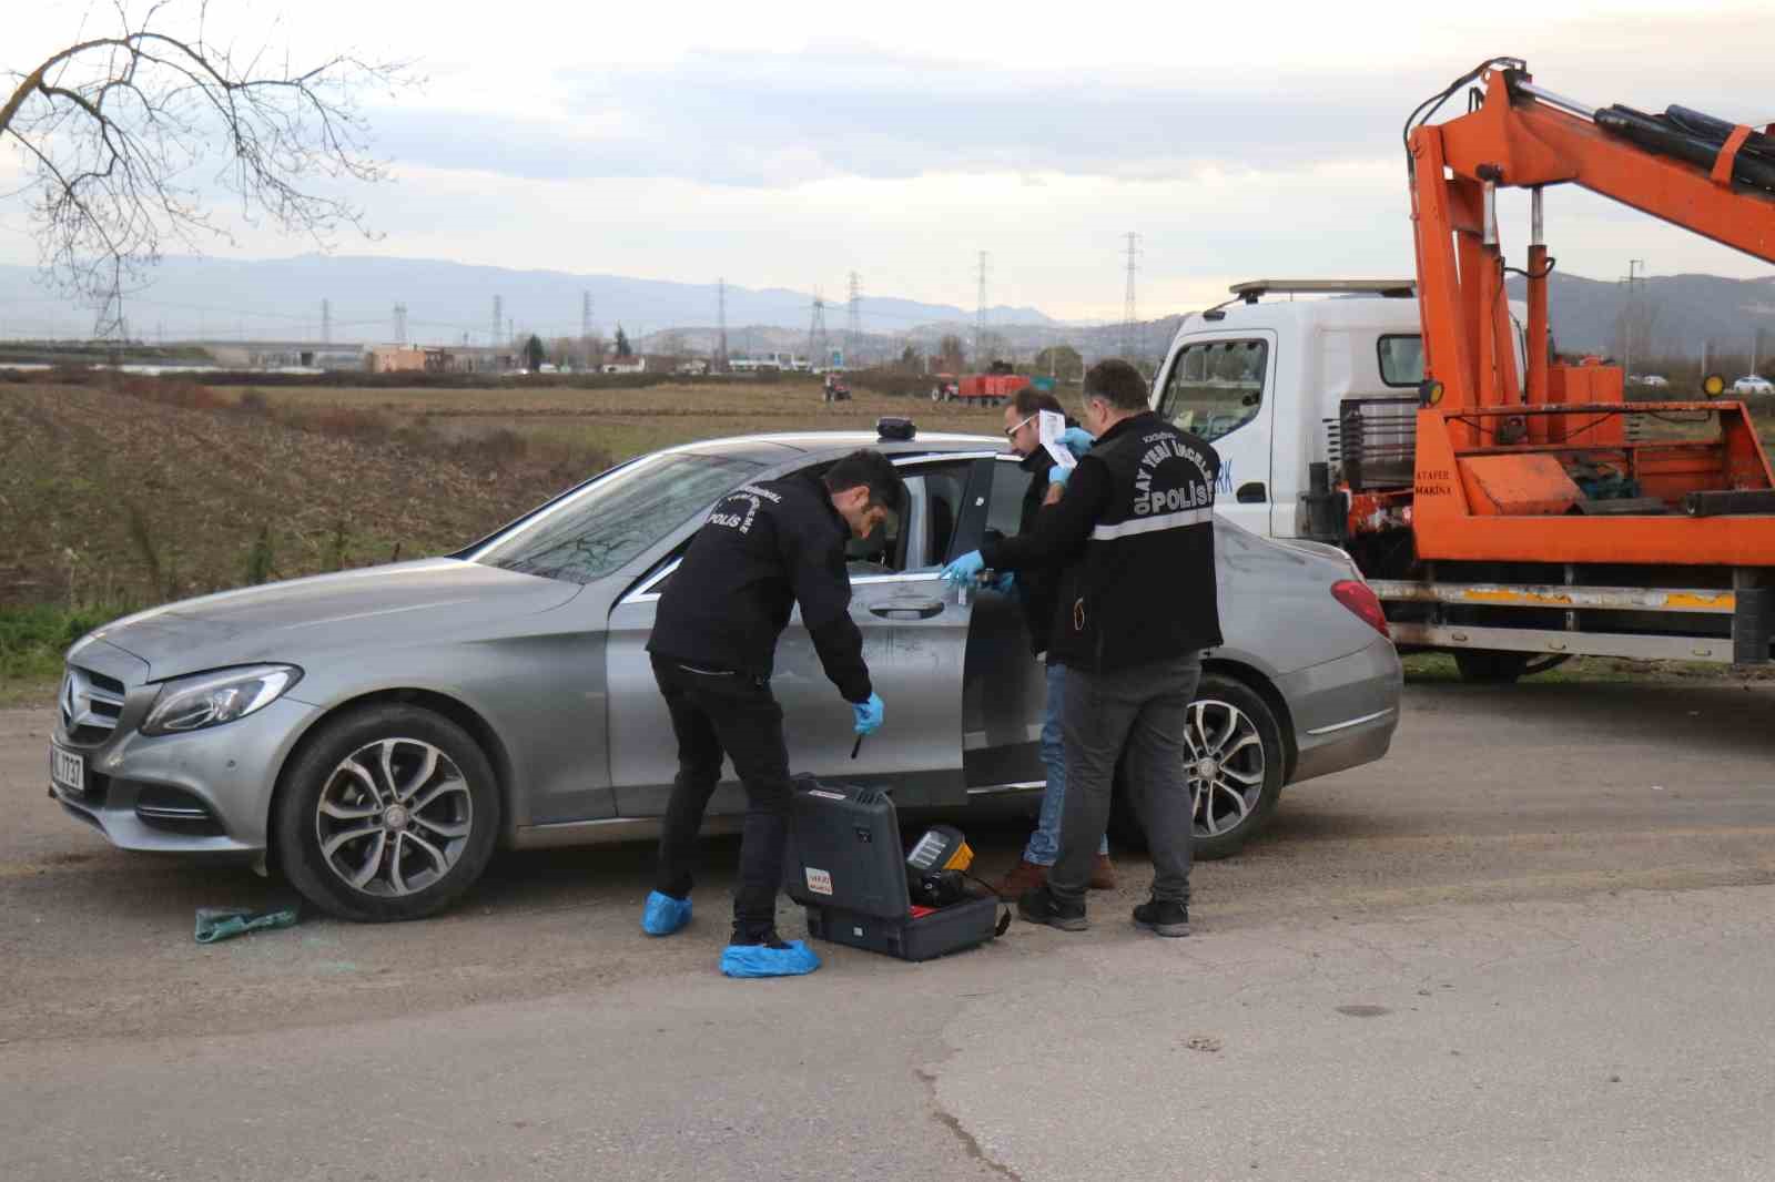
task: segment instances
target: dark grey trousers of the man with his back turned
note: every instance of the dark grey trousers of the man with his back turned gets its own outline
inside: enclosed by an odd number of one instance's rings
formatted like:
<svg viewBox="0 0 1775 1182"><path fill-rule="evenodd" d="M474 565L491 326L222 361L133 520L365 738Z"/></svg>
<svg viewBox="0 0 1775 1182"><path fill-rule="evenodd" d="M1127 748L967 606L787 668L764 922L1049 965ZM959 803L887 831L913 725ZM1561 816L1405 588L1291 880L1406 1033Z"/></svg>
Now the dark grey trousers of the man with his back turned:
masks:
<svg viewBox="0 0 1775 1182"><path fill-rule="evenodd" d="M1115 673L1067 669L1060 728L1067 745L1067 799L1060 818L1060 857L1047 889L1085 902L1097 843L1109 823L1116 761L1152 852L1152 896L1189 902L1195 799L1184 761L1189 701L1202 662L1161 660Z"/></svg>

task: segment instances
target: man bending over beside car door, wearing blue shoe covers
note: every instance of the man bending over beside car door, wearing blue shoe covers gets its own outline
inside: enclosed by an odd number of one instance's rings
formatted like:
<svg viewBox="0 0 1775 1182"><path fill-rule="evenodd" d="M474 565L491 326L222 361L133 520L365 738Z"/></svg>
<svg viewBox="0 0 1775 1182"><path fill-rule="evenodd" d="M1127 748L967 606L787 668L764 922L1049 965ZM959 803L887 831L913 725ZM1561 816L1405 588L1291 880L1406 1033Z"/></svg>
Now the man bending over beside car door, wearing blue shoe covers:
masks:
<svg viewBox="0 0 1775 1182"><path fill-rule="evenodd" d="M737 488L710 511L660 595L648 653L678 738L678 777L641 926L669 935L690 918L692 850L726 754L746 786L733 939L721 960L728 976L788 976L820 965L801 941L786 944L776 932L790 777L770 673L777 637L799 603L825 676L852 703L857 735L880 726L882 699L850 619L845 541L872 534L903 495L879 451L852 453L824 476Z"/></svg>

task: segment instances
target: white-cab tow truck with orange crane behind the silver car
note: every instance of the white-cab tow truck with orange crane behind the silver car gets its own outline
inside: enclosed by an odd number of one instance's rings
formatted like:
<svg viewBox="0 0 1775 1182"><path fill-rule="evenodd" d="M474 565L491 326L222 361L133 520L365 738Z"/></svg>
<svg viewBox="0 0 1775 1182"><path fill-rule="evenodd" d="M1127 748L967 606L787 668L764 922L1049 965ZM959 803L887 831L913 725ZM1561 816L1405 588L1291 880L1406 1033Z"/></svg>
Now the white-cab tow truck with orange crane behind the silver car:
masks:
<svg viewBox="0 0 1775 1182"><path fill-rule="evenodd" d="M1466 114L1431 122L1470 85ZM1415 277L1251 280L1180 325L1154 405L1221 453L1218 509L1347 550L1400 648L1470 680L1578 655L1770 662L1775 479L1750 415L1718 376L1708 401L1628 401L1621 367L1551 357L1542 193L1578 185L1775 261L1775 137L1590 106L1491 59L1404 144ZM1511 188L1530 201L1519 268Z"/></svg>

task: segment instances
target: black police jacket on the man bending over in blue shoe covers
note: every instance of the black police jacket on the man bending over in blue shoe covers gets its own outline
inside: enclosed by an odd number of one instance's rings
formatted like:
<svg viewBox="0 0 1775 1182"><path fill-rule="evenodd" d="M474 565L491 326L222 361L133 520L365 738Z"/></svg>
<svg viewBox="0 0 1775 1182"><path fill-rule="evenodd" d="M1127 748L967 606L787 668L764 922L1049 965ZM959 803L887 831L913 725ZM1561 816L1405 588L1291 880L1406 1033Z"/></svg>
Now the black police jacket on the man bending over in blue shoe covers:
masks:
<svg viewBox="0 0 1775 1182"><path fill-rule="evenodd" d="M648 651L769 678L777 637L801 603L825 676L847 701L868 701L863 634L850 619L847 538L850 527L813 476L733 490L710 509L667 580Z"/></svg>

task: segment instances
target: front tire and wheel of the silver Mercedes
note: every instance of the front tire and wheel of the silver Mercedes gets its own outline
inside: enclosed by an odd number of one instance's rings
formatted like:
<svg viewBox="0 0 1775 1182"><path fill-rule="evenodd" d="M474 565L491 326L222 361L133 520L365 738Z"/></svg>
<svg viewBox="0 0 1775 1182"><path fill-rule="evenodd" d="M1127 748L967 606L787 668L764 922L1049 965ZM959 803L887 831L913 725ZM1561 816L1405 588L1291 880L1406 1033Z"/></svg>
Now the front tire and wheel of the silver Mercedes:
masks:
<svg viewBox="0 0 1775 1182"><path fill-rule="evenodd" d="M343 713L304 742L273 804L289 884L341 919L437 914L474 886L499 839L501 799L479 744L408 705Z"/></svg>

